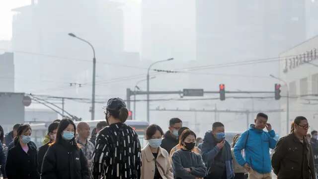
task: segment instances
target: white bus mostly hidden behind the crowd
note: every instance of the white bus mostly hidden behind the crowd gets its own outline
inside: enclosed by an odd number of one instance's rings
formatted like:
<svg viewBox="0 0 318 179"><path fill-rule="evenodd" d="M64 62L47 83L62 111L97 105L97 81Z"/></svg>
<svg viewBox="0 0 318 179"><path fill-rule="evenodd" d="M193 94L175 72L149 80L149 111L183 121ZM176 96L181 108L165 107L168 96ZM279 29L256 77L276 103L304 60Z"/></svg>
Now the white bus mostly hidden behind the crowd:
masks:
<svg viewBox="0 0 318 179"><path fill-rule="evenodd" d="M100 121L105 121L105 120L93 120L93 121L82 121L86 122L90 130L93 130L93 128L96 127L97 123ZM74 122L75 125L78 125L80 121ZM41 147L43 145L43 140L45 135L48 133L48 127L51 124L51 122L48 123L39 123L39 124L30 124L31 129L32 129L32 136L31 136L31 141L33 141L37 147ZM125 124L129 125L132 127L138 134L139 140L140 140L140 145L145 146L146 142L144 139L146 129L149 126L149 123L146 121L135 121L135 120L127 120Z"/></svg>

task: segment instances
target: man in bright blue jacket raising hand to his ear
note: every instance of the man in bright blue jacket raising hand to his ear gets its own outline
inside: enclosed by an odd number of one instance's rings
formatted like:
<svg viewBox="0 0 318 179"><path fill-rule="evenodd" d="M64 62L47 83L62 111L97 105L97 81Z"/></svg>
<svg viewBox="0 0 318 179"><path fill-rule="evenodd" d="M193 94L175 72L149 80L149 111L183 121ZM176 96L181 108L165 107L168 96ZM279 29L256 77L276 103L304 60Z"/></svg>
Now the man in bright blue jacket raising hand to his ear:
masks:
<svg viewBox="0 0 318 179"><path fill-rule="evenodd" d="M275 132L272 126L267 123L268 116L258 113L255 124L242 133L234 146L234 156L239 165L244 167L249 174L249 179L271 179L271 161L269 148L276 146ZM266 127L268 132L263 131ZM245 159L241 151L244 149Z"/></svg>

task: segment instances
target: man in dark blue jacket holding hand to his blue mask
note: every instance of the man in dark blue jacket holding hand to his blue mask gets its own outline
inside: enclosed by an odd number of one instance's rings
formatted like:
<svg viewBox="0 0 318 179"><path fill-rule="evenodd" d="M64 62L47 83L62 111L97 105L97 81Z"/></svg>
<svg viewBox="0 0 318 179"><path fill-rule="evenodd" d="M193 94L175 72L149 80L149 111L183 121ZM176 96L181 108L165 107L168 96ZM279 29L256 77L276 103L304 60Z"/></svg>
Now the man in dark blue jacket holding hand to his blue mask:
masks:
<svg viewBox="0 0 318 179"><path fill-rule="evenodd" d="M225 140L225 129L221 122L212 125L202 143L202 159L208 169L205 179L233 179L231 146Z"/></svg>

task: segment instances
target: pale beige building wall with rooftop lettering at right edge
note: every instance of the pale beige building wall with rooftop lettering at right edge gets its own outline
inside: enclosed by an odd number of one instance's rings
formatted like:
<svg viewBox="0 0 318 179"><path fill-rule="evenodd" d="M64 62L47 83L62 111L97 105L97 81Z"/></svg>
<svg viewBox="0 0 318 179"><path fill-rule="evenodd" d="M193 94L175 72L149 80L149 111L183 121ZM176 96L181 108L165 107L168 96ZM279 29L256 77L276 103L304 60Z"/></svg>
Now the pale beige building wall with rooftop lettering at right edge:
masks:
<svg viewBox="0 0 318 179"><path fill-rule="evenodd" d="M307 117L310 131L318 129L318 36L315 36L280 54L280 77L290 92L289 126L296 116ZM282 82L282 96L286 86ZM286 110L286 97L280 99ZM286 134L286 112L281 113L282 134ZM290 128L290 127L289 127ZM290 131L290 129L289 129Z"/></svg>

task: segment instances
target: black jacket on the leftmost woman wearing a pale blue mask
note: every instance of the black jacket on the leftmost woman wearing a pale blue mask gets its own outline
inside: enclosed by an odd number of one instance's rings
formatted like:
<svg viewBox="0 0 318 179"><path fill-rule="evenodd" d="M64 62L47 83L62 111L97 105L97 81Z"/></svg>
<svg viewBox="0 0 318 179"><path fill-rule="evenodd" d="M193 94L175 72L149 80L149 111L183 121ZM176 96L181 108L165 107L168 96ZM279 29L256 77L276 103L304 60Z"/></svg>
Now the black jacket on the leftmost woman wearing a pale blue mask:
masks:
<svg viewBox="0 0 318 179"><path fill-rule="evenodd" d="M8 179L40 179L37 171L37 151L30 144L28 147L28 153L23 151L20 143L9 150L5 165Z"/></svg>

